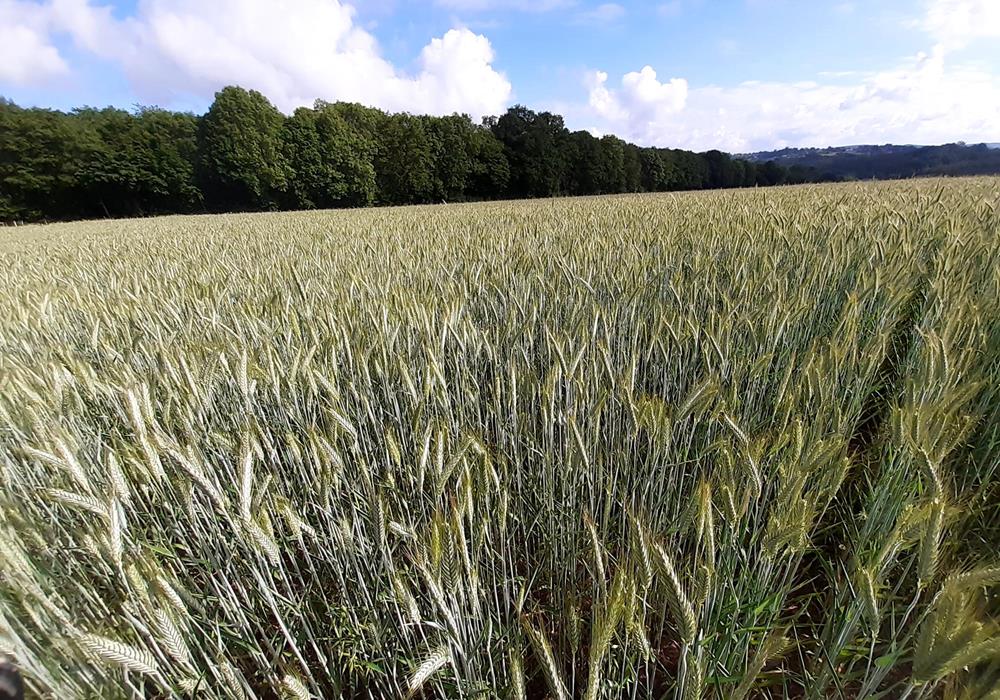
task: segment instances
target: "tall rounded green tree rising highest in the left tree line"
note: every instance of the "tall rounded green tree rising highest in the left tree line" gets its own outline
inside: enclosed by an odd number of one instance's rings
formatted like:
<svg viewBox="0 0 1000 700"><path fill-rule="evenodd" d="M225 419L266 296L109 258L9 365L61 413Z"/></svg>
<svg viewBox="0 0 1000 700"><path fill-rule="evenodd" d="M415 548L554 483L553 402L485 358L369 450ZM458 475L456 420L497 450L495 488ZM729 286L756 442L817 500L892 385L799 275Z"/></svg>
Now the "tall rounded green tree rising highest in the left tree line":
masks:
<svg viewBox="0 0 1000 700"><path fill-rule="evenodd" d="M202 119L200 152L206 200L214 209L269 209L290 171L282 154L284 117L256 90L226 87Z"/></svg>

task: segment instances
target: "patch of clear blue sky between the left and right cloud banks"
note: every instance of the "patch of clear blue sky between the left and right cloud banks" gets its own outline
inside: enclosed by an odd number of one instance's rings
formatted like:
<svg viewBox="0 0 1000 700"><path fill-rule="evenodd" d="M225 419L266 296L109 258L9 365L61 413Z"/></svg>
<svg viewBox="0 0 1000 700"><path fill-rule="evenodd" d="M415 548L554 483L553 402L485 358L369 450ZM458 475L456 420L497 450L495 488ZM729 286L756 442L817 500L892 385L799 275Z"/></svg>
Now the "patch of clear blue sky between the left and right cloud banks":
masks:
<svg viewBox="0 0 1000 700"><path fill-rule="evenodd" d="M597 3L550 12L490 4L494 9L458 11L381 2L359 14L375 23L387 54L399 63L416 56L427 36L452 26L483 32L517 98L530 104L572 99L579 82L573 76L588 69L624 74L648 64L692 83L796 81L820 71L891 64L926 48L916 33L896 31L901 21L918 16L913 3L901 0L876 11L822 1L621 2L614 4L620 10L603 15Z"/></svg>

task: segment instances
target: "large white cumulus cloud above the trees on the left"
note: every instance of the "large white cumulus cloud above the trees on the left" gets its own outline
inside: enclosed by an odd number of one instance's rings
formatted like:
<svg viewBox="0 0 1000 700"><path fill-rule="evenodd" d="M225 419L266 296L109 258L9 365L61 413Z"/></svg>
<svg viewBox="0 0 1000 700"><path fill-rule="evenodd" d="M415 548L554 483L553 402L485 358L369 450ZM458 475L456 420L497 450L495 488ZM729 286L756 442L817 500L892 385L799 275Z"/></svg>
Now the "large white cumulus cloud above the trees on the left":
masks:
<svg viewBox="0 0 1000 700"><path fill-rule="evenodd" d="M0 0L3 10L11 0ZM34 31L49 52L49 72L65 61L52 44L62 33L84 51L115 63L145 101L209 96L226 84L260 90L290 111L316 98L357 101L390 110L474 117L501 111L511 85L493 66L489 40L453 29L424 47L418 69L405 73L380 53L375 38L339 0L145 0L116 19L89 0L47 0L37 17L16 15L4 34ZM34 29L33 29L34 28ZM3 49L6 73L38 74L37 52ZM0 73L2 78L4 73Z"/></svg>

